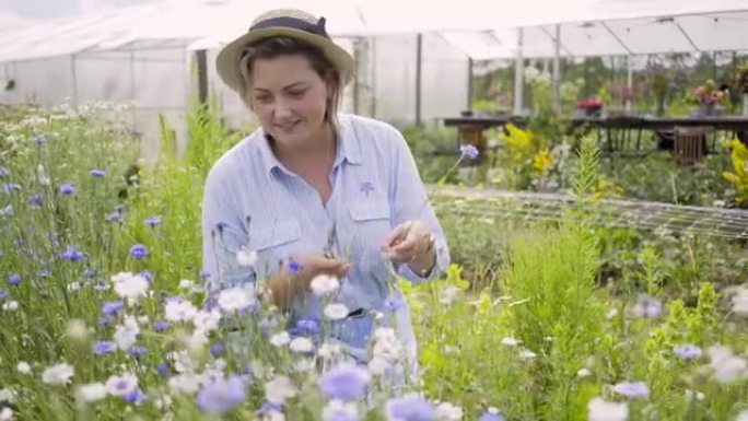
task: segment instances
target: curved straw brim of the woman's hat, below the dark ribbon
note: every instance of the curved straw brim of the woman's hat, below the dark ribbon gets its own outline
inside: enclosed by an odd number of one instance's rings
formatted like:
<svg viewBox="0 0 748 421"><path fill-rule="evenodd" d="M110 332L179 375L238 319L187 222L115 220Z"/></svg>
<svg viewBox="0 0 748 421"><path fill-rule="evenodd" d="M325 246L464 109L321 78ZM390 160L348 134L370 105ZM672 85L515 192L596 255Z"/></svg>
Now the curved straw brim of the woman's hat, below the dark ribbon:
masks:
<svg viewBox="0 0 748 421"><path fill-rule="evenodd" d="M353 78L355 70L353 57L332 40L305 31L289 27L267 27L248 32L221 49L215 59L215 69L223 83L241 93L242 73L239 72L239 60L242 59L244 48L248 44L274 36L288 36L319 48L325 57L332 62L332 66L338 69L343 84Z"/></svg>

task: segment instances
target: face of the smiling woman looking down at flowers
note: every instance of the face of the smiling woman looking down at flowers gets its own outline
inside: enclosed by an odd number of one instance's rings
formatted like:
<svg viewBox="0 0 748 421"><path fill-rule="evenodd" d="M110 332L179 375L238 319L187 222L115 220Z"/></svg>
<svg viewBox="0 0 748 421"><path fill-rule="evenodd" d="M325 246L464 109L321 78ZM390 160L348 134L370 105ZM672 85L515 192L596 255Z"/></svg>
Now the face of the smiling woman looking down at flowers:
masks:
<svg viewBox="0 0 748 421"><path fill-rule="evenodd" d="M248 95L265 131L292 148L323 129L330 90L306 57L285 55L255 60Z"/></svg>

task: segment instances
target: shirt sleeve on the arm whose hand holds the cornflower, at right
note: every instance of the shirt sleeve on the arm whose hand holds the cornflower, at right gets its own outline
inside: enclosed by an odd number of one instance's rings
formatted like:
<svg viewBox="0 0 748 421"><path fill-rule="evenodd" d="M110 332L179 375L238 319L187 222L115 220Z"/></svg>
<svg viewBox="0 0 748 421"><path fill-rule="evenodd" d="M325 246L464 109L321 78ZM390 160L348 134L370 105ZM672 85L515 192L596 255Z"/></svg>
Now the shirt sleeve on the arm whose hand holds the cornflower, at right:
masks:
<svg viewBox="0 0 748 421"><path fill-rule="evenodd" d="M444 236L442 225L436 219L431 202L425 192L423 182L418 173L416 160L408 148L402 135L391 129L391 145L394 171L390 188L390 206L394 212L394 224L400 224L408 220L425 222L435 236L434 248L436 262L431 272L425 277L413 272L408 265L397 265L396 270L402 278L420 283L439 278L449 265L449 249Z"/></svg>

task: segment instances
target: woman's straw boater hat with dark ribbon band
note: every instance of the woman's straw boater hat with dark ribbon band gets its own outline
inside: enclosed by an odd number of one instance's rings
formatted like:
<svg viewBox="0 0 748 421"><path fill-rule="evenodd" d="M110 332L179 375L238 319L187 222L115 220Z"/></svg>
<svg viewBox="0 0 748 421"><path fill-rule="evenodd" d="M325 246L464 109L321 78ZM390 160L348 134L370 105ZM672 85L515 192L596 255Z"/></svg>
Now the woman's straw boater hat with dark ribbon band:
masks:
<svg viewBox="0 0 748 421"><path fill-rule="evenodd" d="M319 48L340 72L343 83L353 75L355 63L348 51L330 39L325 30L325 17L295 9L277 9L262 13L252 23L249 31L229 43L218 55L215 67L221 80L232 90L241 92L239 60L247 45L273 36L288 36Z"/></svg>

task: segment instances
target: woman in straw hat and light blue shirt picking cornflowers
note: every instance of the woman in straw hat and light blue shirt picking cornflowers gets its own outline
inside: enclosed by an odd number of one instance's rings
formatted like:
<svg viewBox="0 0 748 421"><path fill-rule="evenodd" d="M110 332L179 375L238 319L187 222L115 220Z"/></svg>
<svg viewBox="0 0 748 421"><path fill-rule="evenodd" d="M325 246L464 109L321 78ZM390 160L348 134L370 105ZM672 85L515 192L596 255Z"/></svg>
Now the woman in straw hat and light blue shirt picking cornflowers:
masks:
<svg viewBox="0 0 748 421"><path fill-rule="evenodd" d="M330 40L324 17L277 10L226 45L217 66L261 128L208 175L208 296L261 283L292 320L319 320L323 303L309 284L338 277L335 300L350 313L332 323L330 338L365 362L373 314L389 311L413 364L409 311L388 280L393 269L412 282L434 279L449 255L402 136L337 113L352 57ZM254 265L237 262L241 250L256 253Z"/></svg>

